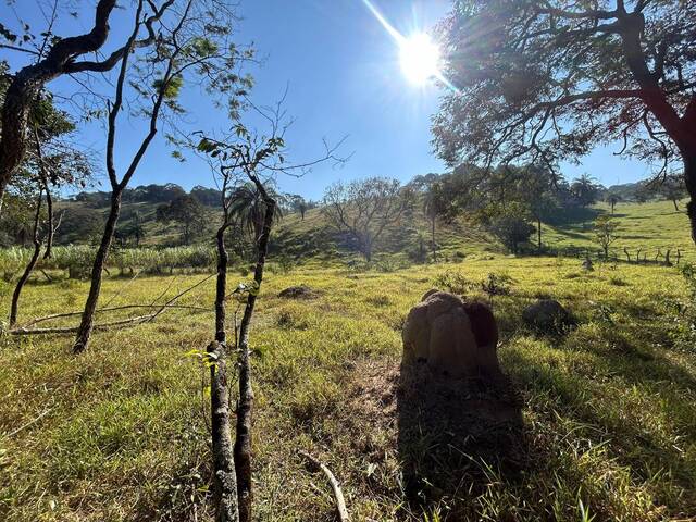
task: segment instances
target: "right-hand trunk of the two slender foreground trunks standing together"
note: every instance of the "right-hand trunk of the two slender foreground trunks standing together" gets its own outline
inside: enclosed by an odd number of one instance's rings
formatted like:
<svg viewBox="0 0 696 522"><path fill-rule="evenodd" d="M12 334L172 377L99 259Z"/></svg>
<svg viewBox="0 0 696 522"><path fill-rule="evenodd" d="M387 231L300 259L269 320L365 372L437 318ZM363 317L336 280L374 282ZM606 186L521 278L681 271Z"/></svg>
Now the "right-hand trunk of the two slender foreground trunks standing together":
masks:
<svg viewBox="0 0 696 522"><path fill-rule="evenodd" d="M261 235L258 238L257 265L253 281L257 285L254 291L249 293L247 306L239 326L239 403L237 407L237 430L234 448L235 469L237 471L237 495L239 499L239 520L251 521L251 410L253 406L253 391L251 388L251 365L249 362L249 326L257 296L263 281L263 269L269 249L269 237L273 225L275 201L268 196L261 182L252 178L257 188L265 201L265 216Z"/></svg>

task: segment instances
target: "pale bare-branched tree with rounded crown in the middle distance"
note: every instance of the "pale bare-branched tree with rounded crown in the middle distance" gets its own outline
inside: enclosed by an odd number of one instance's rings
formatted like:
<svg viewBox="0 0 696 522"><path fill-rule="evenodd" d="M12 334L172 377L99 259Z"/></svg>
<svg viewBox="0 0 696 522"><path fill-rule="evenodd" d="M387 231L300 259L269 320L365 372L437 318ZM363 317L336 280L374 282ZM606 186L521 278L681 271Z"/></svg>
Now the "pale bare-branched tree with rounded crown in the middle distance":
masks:
<svg viewBox="0 0 696 522"><path fill-rule="evenodd" d="M408 195L397 179L369 177L330 186L324 192L322 212L339 232L357 243L370 262L384 229L398 223L409 204Z"/></svg>

